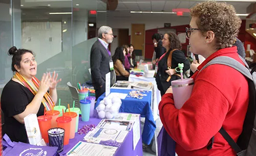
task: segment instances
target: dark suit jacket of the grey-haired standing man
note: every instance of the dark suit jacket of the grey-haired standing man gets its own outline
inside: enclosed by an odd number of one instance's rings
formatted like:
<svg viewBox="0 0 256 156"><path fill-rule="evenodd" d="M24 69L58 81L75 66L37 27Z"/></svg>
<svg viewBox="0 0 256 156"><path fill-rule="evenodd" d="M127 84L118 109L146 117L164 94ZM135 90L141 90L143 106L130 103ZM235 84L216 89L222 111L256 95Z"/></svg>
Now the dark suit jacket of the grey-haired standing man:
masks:
<svg viewBox="0 0 256 156"><path fill-rule="evenodd" d="M97 40L91 48L90 55L92 84L95 89L98 89L101 85L105 85L105 75L110 72L110 61L112 59L108 50ZM113 73L112 70L111 79L113 79Z"/></svg>

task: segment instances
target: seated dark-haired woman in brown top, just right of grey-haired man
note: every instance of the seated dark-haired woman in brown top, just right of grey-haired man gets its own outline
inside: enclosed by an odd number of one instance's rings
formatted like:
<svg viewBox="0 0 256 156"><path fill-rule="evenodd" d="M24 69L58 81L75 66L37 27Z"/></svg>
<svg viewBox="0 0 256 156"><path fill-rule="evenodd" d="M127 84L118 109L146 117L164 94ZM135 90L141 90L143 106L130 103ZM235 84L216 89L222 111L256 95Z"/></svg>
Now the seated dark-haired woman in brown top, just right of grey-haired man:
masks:
<svg viewBox="0 0 256 156"><path fill-rule="evenodd" d="M117 47L112 57L117 81L128 81L130 73L124 68L124 55L126 51L123 47Z"/></svg>

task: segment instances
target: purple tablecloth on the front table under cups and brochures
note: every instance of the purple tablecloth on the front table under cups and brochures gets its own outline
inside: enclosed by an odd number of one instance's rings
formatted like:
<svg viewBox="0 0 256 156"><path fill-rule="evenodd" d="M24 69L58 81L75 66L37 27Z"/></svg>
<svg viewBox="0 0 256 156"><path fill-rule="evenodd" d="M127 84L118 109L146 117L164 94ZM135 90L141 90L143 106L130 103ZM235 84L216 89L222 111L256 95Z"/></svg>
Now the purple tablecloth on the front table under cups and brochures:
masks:
<svg viewBox="0 0 256 156"><path fill-rule="evenodd" d="M90 120L88 122L84 122L81 120L81 117L79 118L79 124L78 124L78 128L81 128L83 125L86 124L95 124L95 126L98 125L98 123L101 121L101 119L97 119L97 118L90 118ZM73 148L79 141L83 141L83 137L85 135L79 135L79 134L75 134L75 138L74 139L70 139L69 140L69 144L64 146L63 151L60 154L66 155L66 153L68 153L68 151ZM133 150L133 130L131 130L124 142L122 143L121 147L119 147L115 153L116 156L122 155L122 156L131 156L131 155L138 155L138 156L142 156L143 155L143 151L142 151L142 140L140 137L140 140L135 148L135 150Z"/></svg>

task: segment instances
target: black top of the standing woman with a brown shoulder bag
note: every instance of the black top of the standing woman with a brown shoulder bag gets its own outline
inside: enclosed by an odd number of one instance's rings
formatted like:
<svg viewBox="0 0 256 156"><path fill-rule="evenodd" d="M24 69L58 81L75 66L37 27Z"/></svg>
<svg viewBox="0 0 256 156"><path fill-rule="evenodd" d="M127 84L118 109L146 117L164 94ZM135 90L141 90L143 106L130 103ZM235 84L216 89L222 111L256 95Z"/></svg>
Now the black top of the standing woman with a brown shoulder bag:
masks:
<svg viewBox="0 0 256 156"><path fill-rule="evenodd" d="M166 82L169 75L165 72L165 70L168 70L167 69L167 58L170 54L170 51L171 50L169 50L165 54L165 56L161 60L158 61L158 71L157 71L157 75L156 75L156 82L157 82L158 89L161 91L161 95L163 95L166 92L166 90L170 87L170 85L171 85L170 82L172 82L173 80L180 79L179 76L172 75L169 82ZM189 61L185 57L184 53L181 50L175 50L175 51L173 51L173 55L172 55L172 69L175 69L176 67L178 67L179 63L184 64L183 73L186 70L188 70L190 67ZM178 74L180 74L180 73L178 72Z"/></svg>

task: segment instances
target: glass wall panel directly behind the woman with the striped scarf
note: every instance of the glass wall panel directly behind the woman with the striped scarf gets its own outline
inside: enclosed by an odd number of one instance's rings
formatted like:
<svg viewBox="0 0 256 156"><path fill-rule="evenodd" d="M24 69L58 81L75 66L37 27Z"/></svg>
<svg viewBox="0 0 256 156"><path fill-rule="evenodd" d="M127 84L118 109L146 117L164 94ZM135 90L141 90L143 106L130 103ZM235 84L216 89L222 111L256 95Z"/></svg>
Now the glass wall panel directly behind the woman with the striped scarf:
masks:
<svg viewBox="0 0 256 156"><path fill-rule="evenodd" d="M13 6L14 45L33 51L39 80L45 72L58 73L58 98L67 106L72 102L67 86L72 81L72 1L21 0Z"/></svg>

